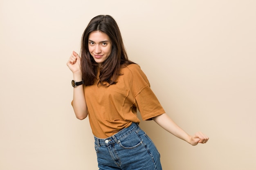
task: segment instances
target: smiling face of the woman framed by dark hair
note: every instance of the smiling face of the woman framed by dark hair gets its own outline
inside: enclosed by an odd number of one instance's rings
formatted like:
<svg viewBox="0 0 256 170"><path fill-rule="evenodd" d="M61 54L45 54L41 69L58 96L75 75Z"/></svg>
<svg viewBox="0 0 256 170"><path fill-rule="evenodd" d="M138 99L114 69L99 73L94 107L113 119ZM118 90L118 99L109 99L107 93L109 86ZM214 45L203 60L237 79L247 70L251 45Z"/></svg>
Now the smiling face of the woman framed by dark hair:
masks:
<svg viewBox="0 0 256 170"><path fill-rule="evenodd" d="M101 66L101 64L110 56L112 42L106 33L93 31L89 34L88 48L95 62Z"/></svg>

